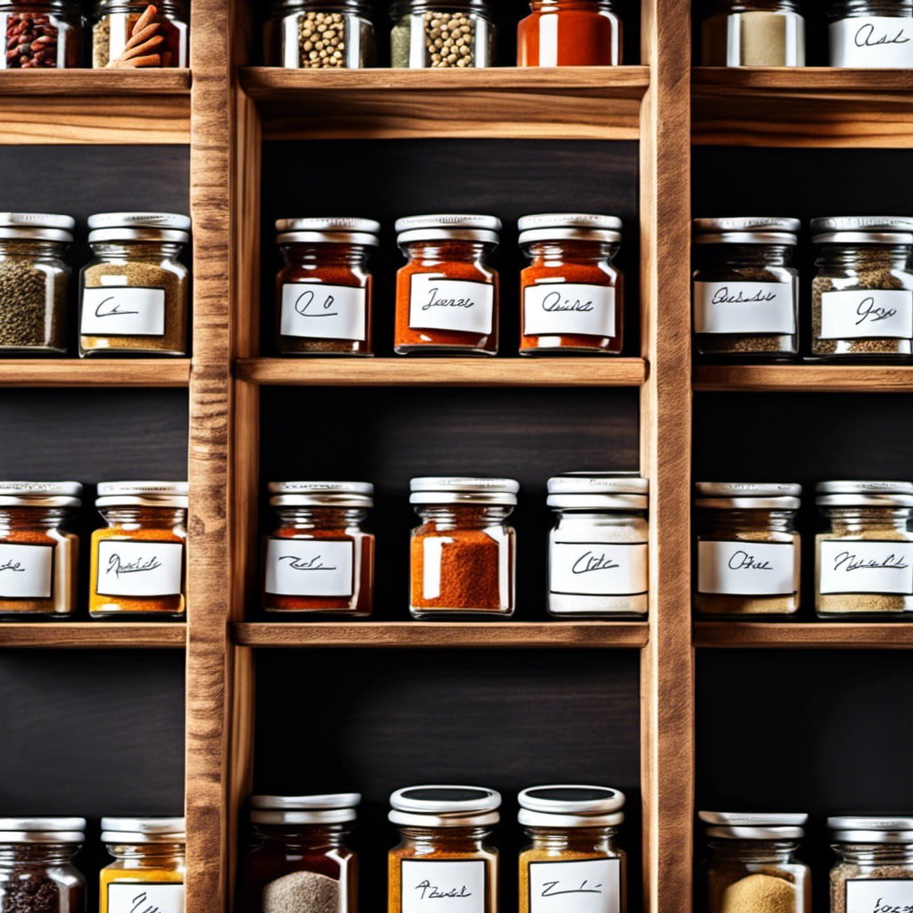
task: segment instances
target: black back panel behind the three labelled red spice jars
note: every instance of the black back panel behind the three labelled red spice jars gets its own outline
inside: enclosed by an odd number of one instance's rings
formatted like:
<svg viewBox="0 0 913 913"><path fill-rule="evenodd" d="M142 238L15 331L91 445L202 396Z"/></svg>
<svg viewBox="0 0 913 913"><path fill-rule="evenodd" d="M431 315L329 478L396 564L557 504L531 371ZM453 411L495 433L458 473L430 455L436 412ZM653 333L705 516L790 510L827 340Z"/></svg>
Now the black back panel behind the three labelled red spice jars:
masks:
<svg viewBox="0 0 913 913"><path fill-rule="evenodd" d="M362 215L383 226L373 255L374 351L393 352L396 270L404 258L394 223L404 215L484 213L504 222L492 259L500 273L500 354L519 346L517 219L544 212L619 215L615 264L624 274L624 353L640 352L636 142L383 140L268 142L263 148L261 321L263 352L275 346L278 218ZM301 175L299 179L295 175ZM307 177L304 177L307 175ZM419 356L413 356L419 357Z"/></svg>

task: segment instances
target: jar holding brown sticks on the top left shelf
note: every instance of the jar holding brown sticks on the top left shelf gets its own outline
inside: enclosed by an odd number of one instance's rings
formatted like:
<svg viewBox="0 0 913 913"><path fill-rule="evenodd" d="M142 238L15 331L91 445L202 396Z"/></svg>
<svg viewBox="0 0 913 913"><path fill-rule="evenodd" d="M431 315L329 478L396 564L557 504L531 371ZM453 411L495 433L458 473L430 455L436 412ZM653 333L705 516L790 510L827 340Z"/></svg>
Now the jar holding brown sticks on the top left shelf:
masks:
<svg viewBox="0 0 913 913"><path fill-rule="evenodd" d="M187 67L185 0L99 0L92 67Z"/></svg>

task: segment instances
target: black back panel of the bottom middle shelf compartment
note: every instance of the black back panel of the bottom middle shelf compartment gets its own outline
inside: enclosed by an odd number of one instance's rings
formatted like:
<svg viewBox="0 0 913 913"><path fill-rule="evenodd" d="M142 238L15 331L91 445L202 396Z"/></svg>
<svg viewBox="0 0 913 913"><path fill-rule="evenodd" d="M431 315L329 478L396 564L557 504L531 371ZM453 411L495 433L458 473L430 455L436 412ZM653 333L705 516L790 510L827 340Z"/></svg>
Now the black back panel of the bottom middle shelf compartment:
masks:
<svg viewBox="0 0 913 913"><path fill-rule="evenodd" d="M256 792L362 792L352 845L362 913L386 909L391 792L421 782L501 792L500 909L517 908L516 794L600 783L628 797L629 908L640 909L636 651L270 652L257 657Z"/></svg>

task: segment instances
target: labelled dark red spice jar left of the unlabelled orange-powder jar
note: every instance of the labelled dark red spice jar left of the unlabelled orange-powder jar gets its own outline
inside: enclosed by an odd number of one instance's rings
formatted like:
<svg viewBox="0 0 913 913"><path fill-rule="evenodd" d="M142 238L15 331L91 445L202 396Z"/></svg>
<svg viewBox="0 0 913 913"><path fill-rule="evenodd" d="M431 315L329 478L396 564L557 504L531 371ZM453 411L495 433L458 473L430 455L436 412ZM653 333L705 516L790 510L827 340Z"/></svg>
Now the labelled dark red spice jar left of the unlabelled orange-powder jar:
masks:
<svg viewBox="0 0 913 913"><path fill-rule="evenodd" d="M374 537L362 530L369 482L270 482L277 523L264 543L267 612L371 614Z"/></svg>

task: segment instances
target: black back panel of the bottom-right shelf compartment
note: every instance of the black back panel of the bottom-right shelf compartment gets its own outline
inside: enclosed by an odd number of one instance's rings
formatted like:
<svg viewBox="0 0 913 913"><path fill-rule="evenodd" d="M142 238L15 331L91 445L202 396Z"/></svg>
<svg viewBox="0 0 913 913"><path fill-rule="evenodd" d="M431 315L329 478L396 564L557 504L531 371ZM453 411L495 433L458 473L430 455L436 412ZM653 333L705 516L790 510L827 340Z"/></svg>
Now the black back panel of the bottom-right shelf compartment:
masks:
<svg viewBox="0 0 913 913"><path fill-rule="evenodd" d="M827 913L827 816L913 812L911 690L903 651L700 651L698 809L810 813Z"/></svg>

